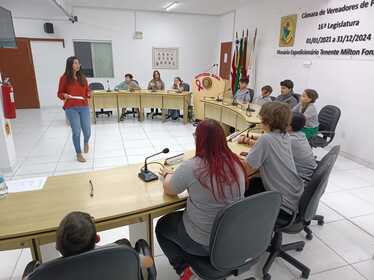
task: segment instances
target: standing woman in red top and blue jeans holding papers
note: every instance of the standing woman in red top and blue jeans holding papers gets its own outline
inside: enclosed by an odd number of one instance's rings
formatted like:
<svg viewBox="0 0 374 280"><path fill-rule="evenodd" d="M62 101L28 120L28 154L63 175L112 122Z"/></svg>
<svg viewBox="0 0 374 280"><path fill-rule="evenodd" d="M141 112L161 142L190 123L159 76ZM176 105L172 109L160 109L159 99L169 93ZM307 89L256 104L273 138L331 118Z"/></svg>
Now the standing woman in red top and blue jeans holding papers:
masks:
<svg viewBox="0 0 374 280"><path fill-rule="evenodd" d="M66 60L65 73L60 78L57 96L64 101L63 108L70 122L77 160L86 162L82 155L80 139L82 131L84 152L88 153L88 142L91 137L91 116L88 106L90 95L78 57L71 56Z"/></svg>

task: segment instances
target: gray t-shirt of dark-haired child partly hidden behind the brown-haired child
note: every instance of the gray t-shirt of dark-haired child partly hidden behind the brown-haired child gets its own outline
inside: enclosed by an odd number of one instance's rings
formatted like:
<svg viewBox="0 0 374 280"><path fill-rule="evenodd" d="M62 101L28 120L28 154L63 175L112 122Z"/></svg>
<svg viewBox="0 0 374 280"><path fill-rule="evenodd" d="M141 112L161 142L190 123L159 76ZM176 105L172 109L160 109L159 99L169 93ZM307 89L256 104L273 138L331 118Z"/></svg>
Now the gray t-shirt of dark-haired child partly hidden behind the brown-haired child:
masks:
<svg viewBox="0 0 374 280"><path fill-rule="evenodd" d="M301 179L310 181L314 170L317 168L312 148L302 131L291 132L290 138L297 173Z"/></svg>

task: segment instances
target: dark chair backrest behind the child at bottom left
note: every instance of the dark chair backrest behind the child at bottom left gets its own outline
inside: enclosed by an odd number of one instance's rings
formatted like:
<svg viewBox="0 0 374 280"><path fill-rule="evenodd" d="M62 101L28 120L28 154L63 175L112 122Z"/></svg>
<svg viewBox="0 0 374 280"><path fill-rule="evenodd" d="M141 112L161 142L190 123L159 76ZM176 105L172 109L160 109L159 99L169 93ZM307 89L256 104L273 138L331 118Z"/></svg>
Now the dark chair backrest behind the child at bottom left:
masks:
<svg viewBox="0 0 374 280"><path fill-rule="evenodd" d="M110 245L40 265L27 280L140 280L139 257L132 248Z"/></svg>

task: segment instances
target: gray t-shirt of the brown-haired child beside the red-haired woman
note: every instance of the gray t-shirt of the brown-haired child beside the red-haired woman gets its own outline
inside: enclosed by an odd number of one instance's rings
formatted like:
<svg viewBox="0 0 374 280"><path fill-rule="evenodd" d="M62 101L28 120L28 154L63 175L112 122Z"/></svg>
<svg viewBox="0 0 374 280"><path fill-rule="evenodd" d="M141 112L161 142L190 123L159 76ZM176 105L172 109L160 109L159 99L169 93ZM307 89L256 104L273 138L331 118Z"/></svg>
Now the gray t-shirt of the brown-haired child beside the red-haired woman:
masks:
<svg viewBox="0 0 374 280"><path fill-rule="evenodd" d="M304 182L297 174L288 134L269 132L262 135L249 151L247 162L260 170L266 190L282 194L284 210L298 210Z"/></svg>

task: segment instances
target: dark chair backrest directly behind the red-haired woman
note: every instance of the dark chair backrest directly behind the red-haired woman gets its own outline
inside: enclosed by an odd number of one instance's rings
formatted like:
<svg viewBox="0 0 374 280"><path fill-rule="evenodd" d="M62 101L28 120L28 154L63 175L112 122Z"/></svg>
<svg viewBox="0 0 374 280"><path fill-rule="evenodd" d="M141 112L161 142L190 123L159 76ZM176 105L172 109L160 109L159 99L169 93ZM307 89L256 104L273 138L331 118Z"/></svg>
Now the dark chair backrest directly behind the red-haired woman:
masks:
<svg viewBox="0 0 374 280"><path fill-rule="evenodd" d="M278 192L264 192L220 211L210 238L211 264L218 270L231 271L266 252L281 200Z"/></svg>

